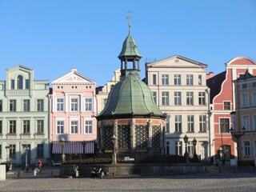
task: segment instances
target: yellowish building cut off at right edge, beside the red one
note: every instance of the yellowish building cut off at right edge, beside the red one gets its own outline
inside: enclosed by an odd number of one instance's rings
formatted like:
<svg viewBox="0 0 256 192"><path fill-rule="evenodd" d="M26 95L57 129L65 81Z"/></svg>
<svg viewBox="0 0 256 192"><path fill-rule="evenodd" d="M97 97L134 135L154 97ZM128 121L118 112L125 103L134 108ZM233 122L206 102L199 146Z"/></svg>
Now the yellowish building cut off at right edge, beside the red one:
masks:
<svg viewBox="0 0 256 192"><path fill-rule="evenodd" d="M240 165L256 165L256 75L246 70L234 80L234 93L231 134L237 143L237 160Z"/></svg>

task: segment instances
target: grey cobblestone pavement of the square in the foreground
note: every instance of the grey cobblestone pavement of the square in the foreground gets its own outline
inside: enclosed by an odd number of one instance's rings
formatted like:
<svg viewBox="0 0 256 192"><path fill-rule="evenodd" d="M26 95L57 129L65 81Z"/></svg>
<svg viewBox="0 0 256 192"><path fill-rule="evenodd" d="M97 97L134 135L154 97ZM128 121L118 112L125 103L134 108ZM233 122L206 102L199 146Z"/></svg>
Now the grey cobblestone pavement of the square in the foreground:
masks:
<svg viewBox="0 0 256 192"><path fill-rule="evenodd" d="M58 169L8 173L0 191L256 191L256 173L171 174L105 178L59 178Z"/></svg>

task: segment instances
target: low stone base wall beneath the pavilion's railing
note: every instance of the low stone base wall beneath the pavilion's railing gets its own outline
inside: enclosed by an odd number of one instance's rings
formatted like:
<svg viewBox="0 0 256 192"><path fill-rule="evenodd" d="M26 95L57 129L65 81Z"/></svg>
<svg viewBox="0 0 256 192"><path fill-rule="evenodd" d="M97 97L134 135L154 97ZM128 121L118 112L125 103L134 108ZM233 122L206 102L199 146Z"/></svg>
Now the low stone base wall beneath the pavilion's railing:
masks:
<svg viewBox="0 0 256 192"><path fill-rule="evenodd" d="M78 166L78 177L89 178L91 170L102 168L106 176L125 175L170 175L170 174L198 174L207 171L207 165L202 163L120 163L120 164L80 164ZM60 166L60 176L74 176L73 165L64 164Z"/></svg>

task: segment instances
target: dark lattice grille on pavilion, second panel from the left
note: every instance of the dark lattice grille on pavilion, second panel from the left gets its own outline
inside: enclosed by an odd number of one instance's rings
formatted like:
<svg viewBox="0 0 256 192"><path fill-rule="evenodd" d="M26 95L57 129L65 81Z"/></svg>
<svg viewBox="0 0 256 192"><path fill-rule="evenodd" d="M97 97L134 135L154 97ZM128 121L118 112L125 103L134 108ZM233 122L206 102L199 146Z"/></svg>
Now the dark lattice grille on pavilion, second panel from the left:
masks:
<svg viewBox="0 0 256 192"><path fill-rule="evenodd" d="M130 148L130 125L118 126L118 149Z"/></svg>

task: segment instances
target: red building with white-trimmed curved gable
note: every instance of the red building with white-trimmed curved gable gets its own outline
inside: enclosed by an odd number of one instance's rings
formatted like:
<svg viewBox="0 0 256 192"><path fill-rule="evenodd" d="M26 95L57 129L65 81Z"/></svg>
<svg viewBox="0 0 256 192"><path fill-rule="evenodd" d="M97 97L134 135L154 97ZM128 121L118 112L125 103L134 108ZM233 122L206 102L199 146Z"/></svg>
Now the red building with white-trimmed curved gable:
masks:
<svg viewBox="0 0 256 192"><path fill-rule="evenodd" d="M230 164L230 159L238 157L236 145L232 140L230 128L231 112L235 110L235 92L233 81L245 74L246 69L256 74L256 63L246 57L238 57L226 63L226 70L207 79L210 88L211 120L214 130L212 145L214 158L223 164Z"/></svg>

